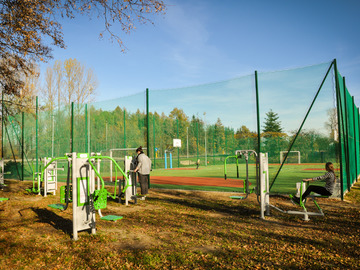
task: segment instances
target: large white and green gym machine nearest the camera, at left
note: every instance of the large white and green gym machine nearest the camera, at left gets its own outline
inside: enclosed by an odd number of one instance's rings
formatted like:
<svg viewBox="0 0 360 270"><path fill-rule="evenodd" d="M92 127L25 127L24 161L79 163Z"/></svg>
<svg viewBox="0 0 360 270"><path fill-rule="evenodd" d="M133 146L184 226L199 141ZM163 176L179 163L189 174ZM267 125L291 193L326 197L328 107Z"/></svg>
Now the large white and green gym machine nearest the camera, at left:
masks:
<svg viewBox="0 0 360 270"><path fill-rule="evenodd" d="M70 153L66 154L69 170L66 186L61 187L60 201L63 204L51 204L52 208L66 210L69 203L73 208L73 239L78 239L78 232L90 230L92 234L96 233L95 213L98 210L99 216L103 220L116 221L122 219L122 216L103 216L101 209L107 206L108 191L105 189L105 183L96 168L97 160L109 159L126 179L126 185L123 192L126 192L128 177L115 162L114 159L107 156L94 155L88 153ZM42 173L43 175L43 173ZM95 175L98 177L96 185Z"/></svg>

